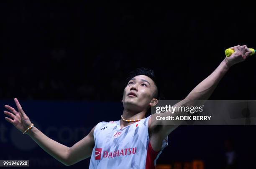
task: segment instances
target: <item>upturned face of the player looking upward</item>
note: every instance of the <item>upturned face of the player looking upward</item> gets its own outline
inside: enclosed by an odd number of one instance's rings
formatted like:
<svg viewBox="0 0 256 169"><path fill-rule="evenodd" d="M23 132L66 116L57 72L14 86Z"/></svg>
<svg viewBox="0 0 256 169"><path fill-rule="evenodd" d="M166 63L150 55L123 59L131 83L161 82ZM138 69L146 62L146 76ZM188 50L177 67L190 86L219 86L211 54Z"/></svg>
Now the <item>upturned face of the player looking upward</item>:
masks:
<svg viewBox="0 0 256 169"><path fill-rule="evenodd" d="M123 91L124 108L143 111L151 103L156 92L154 81L148 76L139 75L132 78Z"/></svg>

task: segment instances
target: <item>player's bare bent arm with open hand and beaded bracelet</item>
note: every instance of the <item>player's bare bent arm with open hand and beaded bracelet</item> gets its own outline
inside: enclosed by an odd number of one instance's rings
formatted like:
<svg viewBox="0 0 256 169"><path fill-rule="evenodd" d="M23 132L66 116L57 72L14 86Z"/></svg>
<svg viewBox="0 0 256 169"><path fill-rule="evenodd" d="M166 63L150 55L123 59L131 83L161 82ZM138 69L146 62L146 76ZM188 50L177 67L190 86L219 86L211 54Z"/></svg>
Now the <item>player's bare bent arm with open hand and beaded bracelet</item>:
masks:
<svg viewBox="0 0 256 169"><path fill-rule="evenodd" d="M18 111L15 108L5 105L9 111L4 111L9 117L5 117L6 121L10 122L20 131L25 131L31 126L31 121L25 114L20 106L20 103L15 98L14 99ZM56 160L60 161L62 164L69 166L75 164L82 159L86 159L91 156L92 149L94 147L94 132L95 127L90 131L90 133L85 136L82 140L78 141L72 147L67 147L63 144L58 143L47 137L35 126L28 130L28 134L44 151L53 156Z"/></svg>

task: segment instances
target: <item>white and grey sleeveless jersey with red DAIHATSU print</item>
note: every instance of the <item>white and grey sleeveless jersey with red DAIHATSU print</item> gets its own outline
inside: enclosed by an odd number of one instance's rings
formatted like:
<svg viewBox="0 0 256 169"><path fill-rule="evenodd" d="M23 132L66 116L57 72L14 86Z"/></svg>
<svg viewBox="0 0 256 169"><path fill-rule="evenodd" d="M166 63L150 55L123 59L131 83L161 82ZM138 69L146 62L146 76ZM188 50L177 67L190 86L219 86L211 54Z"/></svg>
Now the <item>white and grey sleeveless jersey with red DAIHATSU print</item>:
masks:
<svg viewBox="0 0 256 169"><path fill-rule="evenodd" d="M89 169L154 169L156 159L168 144L168 137L161 151L152 149L148 136L149 117L122 129L120 120L98 123L93 133L95 146Z"/></svg>

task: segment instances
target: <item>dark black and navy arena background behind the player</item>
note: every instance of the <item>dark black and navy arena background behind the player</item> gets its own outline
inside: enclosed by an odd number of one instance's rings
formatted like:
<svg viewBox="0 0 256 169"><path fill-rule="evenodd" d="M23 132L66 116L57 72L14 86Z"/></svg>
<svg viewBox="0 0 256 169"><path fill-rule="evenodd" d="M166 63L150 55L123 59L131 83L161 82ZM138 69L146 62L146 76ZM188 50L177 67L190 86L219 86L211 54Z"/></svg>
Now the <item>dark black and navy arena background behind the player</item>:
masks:
<svg viewBox="0 0 256 169"><path fill-rule="evenodd" d="M72 146L97 122L120 119L125 78L133 69L154 69L166 100L180 100L217 68L226 48L256 48L256 13L250 6L176 3L1 1L2 109L14 106L17 97L42 129L86 129L62 142ZM251 56L230 68L210 100L256 100L255 64ZM11 130L4 116L0 124ZM221 168L224 140L231 137L239 166L255 168L255 129L180 126L170 134L158 163L202 159L207 169ZM0 159L31 154L52 159L39 146L22 151L4 138ZM51 138L61 142L54 134ZM87 168L88 161L69 168Z"/></svg>

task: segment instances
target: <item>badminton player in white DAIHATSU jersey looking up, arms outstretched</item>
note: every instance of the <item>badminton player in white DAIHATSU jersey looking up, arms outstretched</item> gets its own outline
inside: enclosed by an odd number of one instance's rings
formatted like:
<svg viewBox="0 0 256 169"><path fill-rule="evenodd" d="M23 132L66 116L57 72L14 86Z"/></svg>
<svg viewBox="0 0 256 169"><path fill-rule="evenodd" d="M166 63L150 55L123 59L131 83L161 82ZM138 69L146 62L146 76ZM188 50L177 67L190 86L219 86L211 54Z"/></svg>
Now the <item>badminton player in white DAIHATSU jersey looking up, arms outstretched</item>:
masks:
<svg viewBox="0 0 256 169"><path fill-rule="evenodd" d="M199 83L184 100L207 100L221 78L236 63L246 60L251 50L246 45L232 47L235 52L220 63L210 76ZM156 106L159 98L154 72L139 68L130 73L123 91L123 113L119 121L100 122L71 147L60 144L33 126L17 98L17 110L5 105L5 119L28 134L42 149L62 164L70 166L90 157L89 169L154 169L156 159L168 144L167 136L177 127L153 120L156 114L146 112ZM175 104L183 105L183 101ZM172 116L171 112L157 116Z"/></svg>

